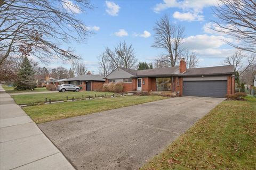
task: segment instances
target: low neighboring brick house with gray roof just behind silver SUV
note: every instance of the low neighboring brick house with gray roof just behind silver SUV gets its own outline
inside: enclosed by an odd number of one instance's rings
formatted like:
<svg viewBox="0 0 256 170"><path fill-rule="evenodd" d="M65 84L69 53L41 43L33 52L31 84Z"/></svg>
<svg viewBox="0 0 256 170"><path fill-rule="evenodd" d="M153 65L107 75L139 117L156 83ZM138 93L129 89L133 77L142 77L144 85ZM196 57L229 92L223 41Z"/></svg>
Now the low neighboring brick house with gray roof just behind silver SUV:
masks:
<svg viewBox="0 0 256 170"><path fill-rule="evenodd" d="M65 83L82 87L82 90L86 91L102 91L105 79L101 75L91 74L88 72L86 75L67 79L65 80Z"/></svg>

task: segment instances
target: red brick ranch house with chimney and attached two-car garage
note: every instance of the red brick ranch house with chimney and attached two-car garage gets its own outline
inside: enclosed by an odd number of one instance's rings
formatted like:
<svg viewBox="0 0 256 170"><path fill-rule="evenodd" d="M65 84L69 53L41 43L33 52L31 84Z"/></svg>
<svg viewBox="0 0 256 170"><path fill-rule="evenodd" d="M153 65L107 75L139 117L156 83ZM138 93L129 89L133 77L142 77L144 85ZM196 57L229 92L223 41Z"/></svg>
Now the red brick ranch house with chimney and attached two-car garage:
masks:
<svg viewBox="0 0 256 170"><path fill-rule="evenodd" d="M235 92L234 66L187 69L179 66L149 70L118 67L105 77L108 82L123 82L124 91L173 92L177 96L225 97Z"/></svg>

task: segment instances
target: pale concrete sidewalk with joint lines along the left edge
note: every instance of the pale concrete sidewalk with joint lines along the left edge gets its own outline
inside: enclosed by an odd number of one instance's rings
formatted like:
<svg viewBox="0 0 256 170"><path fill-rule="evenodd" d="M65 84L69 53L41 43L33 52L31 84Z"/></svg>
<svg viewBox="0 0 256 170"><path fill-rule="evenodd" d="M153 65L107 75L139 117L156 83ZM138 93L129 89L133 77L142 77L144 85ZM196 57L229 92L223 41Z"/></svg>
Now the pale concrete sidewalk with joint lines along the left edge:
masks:
<svg viewBox="0 0 256 170"><path fill-rule="evenodd" d="M1 85L0 169L74 169Z"/></svg>

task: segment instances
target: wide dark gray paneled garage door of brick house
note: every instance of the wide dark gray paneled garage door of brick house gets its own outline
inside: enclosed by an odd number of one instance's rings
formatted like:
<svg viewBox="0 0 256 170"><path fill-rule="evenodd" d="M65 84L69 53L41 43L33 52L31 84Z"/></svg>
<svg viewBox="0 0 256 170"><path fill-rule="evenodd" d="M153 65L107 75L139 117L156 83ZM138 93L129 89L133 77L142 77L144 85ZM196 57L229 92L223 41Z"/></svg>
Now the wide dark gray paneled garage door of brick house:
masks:
<svg viewBox="0 0 256 170"><path fill-rule="evenodd" d="M183 81L184 96L225 97L227 81Z"/></svg>

